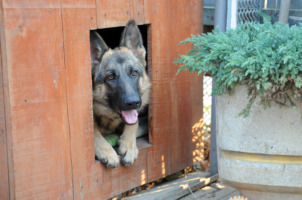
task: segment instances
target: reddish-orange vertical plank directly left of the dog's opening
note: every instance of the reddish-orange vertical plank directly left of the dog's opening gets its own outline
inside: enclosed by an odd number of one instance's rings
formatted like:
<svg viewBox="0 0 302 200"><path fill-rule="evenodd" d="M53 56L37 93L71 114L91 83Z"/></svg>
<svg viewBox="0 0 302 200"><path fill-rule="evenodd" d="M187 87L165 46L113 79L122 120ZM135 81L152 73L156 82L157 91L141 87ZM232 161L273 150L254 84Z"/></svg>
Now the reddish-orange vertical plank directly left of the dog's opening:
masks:
<svg viewBox="0 0 302 200"><path fill-rule="evenodd" d="M95 164L89 32L95 1L61 0L74 199L102 199L102 167Z"/></svg>

